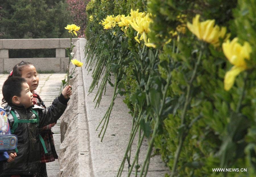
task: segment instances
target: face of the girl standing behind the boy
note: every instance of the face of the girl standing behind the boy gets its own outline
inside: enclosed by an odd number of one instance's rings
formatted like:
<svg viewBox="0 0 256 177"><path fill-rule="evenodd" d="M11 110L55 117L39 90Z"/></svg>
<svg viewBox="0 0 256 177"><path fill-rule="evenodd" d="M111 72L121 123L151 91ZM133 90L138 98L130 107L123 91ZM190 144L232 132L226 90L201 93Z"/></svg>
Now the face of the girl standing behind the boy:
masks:
<svg viewBox="0 0 256 177"><path fill-rule="evenodd" d="M36 72L36 68L33 65L24 66L21 71L21 77L26 79L31 92L36 90L39 83L39 77Z"/></svg>

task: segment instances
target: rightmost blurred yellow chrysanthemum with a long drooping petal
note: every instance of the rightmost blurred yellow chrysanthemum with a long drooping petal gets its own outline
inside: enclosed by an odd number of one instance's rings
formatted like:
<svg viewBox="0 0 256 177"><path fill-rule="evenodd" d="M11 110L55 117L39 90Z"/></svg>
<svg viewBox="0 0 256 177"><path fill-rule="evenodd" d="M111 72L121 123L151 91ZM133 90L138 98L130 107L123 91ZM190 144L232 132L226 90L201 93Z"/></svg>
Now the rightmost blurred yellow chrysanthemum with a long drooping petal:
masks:
<svg viewBox="0 0 256 177"><path fill-rule="evenodd" d="M234 85L236 76L248 68L245 59L250 60L251 46L245 42L243 46L238 43L238 38L234 38L231 42L228 40L222 44L222 49L228 61L234 66L228 71L224 77L224 89L230 90Z"/></svg>

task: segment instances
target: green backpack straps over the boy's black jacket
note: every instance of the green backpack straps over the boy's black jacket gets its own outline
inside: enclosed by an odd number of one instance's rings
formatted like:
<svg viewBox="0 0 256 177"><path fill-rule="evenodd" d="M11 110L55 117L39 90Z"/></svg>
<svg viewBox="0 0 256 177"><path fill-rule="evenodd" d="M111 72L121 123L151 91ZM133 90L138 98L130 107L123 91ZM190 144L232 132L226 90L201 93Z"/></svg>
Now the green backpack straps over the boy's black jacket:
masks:
<svg viewBox="0 0 256 177"><path fill-rule="evenodd" d="M37 125L39 125L39 117L38 117L37 112L34 109L31 109L31 111L36 115L36 119L20 120L20 119L17 119L15 112L13 110L11 110L11 114L13 115L13 118L14 118L14 123L13 123L13 126L11 128L11 133L14 133L14 131L18 127L18 123L37 123ZM44 139L42 138L42 136L40 134L38 134L38 137L39 137L40 142L42 143L42 146L44 148L44 153L47 154L48 151L46 149ZM16 153L18 153L17 148L15 149L15 151L16 151Z"/></svg>

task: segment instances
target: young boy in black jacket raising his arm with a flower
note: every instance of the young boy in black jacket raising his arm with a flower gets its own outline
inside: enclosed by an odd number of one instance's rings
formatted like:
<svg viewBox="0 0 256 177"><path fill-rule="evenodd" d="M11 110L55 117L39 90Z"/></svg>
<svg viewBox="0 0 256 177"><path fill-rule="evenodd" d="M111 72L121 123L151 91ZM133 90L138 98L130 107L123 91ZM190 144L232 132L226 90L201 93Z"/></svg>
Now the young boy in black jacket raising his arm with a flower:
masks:
<svg viewBox="0 0 256 177"><path fill-rule="evenodd" d="M8 104L5 111L11 130L18 138L18 146L15 160L3 163L1 176L32 177L37 172L42 142L40 142L38 128L54 123L61 117L72 94L70 87L66 86L61 95L53 100L52 105L43 109L33 104L33 94L29 91L24 78L9 77L4 82L3 98ZM14 152L9 151L8 154Z"/></svg>

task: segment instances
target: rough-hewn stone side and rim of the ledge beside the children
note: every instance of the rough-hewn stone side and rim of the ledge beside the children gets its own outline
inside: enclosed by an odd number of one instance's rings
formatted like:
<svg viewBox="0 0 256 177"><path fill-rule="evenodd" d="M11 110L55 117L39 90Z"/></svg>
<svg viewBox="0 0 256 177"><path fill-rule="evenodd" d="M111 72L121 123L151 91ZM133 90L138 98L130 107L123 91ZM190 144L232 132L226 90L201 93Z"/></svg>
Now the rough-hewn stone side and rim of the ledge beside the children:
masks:
<svg viewBox="0 0 256 177"><path fill-rule="evenodd" d="M80 60L79 42L73 49L75 57ZM70 70L74 66L71 64ZM84 104L84 86L81 68L76 68L75 77L70 80L73 94L66 111L61 117L61 148L59 154L61 177L92 176L89 146L88 121Z"/></svg>

